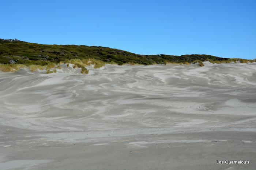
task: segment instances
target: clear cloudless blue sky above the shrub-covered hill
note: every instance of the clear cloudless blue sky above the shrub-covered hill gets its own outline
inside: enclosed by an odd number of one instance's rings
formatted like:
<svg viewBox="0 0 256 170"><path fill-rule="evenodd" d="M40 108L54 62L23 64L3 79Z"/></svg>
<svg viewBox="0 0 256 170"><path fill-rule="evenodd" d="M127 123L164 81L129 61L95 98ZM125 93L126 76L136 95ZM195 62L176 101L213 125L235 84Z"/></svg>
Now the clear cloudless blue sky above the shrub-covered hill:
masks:
<svg viewBox="0 0 256 170"><path fill-rule="evenodd" d="M256 0L1 0L0 38L256 58Z"/></svg>

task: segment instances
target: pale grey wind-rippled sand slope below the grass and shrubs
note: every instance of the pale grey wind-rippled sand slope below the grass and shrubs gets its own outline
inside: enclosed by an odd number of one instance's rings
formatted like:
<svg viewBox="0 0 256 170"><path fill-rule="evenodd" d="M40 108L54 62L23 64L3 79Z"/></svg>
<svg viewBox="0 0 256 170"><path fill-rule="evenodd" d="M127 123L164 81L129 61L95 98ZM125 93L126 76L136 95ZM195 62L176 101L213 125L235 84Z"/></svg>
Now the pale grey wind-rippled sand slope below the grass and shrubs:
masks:
<svg viewBox="0 0 256 170"><path fill-rule="evenodd" d="M255 63L20 70L0 96L1 170L256 166Z"/></svg>

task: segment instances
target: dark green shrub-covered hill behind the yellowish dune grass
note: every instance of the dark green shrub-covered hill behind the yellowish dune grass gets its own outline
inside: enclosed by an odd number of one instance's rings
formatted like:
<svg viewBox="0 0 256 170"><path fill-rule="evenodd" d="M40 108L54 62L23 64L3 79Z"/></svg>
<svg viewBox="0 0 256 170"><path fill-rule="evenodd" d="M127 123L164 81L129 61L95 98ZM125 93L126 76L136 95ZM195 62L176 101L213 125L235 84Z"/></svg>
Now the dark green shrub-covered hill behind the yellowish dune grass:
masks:
<svg viewBox="0 0 256 170"><path fill-rule="evenodd" d="M40 64L59 63L66 59L97 59L106 63L166 64L192 63L195 60L221 62L229 60L211 55L139 55L108 47L77 45L46 45L19 40L0 39L0 63L3 64Z"/></svg>

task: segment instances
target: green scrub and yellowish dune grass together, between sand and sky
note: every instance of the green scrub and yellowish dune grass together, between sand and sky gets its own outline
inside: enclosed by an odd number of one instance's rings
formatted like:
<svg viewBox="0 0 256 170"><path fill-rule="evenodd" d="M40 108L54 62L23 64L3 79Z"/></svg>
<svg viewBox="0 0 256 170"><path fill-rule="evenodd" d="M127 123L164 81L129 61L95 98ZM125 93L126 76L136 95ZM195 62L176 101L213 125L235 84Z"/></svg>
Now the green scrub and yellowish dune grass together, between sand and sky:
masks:
<svg viewBox="0 0 256 170"><path fill-rule="evenodd" d="M230 63L240 61L241 63L254 62L255 60L228 59L211 55L139 55L131 52L117 50L108 47L76 46L76 45L46 45L27 43L19 40L0 39L0 63L9 64L1 66L0 71L15 71L16 64L23 64L31 71L46 69L48 72L54 68L60 68L60 64L75 64L82 69L84 74L88 73L85 68L94 65L100 68L105 64L190 64L199 63L203 66L204 61L211 63ZM12 65L14 64L14 65Z"/></svg>

